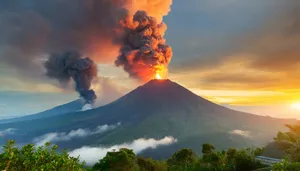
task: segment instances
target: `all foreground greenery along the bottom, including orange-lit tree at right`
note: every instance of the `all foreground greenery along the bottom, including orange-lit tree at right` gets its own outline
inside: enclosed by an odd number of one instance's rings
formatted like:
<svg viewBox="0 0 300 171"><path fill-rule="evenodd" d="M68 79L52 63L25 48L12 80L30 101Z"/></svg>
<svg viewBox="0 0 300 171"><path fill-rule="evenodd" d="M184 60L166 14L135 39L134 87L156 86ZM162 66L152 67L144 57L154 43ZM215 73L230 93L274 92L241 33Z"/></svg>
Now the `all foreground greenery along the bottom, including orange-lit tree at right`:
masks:
<svg viewBox="0 0 300 171"><path fill-rule="evenodd" d="M218 151L212 144L202 144L202 154L181 149L166 160L153 160L136 155L131 149L108 152L94 166L86 166L79 157L58 152L58 146L46 143L35 147L16 147L10 140L2 147L0 169L5 171L297 171L300 170L300 125L286 125L288 132L278 132L274 141L286 153L282 162L267 166L255 159L264 148Z"/></svg>

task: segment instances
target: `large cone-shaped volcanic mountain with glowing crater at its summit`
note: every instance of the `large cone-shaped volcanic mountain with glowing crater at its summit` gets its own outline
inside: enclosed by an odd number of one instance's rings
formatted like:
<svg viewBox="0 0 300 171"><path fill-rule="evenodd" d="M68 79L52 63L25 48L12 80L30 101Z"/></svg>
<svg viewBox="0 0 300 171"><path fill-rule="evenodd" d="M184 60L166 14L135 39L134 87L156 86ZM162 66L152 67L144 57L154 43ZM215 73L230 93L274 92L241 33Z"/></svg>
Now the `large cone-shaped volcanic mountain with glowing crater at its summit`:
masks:
<svg viewBox="0 0 300 171"><path fill-rule="evenodd" d="M219 149L265 145L277 131L285 129L284 124L293 122L295 120L234 111L199 97L170 80L151 80L120 99L93 110L1 124L0 130L15 128L16 133L8 138L25 143L50 132L121 123L118 128L103 134L57 144L75 149L84 145L109 146L138 138L172 136L177 143L144 152L145 156L164 158L180 148L192 148L200 153L202 143L214 144Z"/></svg>

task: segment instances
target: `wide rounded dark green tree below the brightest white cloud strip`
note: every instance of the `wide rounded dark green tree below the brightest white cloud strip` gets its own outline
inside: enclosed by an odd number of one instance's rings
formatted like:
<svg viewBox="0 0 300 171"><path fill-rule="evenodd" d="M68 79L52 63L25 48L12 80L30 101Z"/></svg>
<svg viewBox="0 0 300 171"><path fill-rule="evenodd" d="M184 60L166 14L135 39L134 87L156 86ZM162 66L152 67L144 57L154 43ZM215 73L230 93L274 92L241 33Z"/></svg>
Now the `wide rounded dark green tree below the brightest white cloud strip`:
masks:
<svg viewBox="0 0 300 171"><path fill-rule="evenodd" d="M133 150L122 148L119 151L107 152L106 156L93 166L101 171L134 171L137 170L136 156Z"/></svg>

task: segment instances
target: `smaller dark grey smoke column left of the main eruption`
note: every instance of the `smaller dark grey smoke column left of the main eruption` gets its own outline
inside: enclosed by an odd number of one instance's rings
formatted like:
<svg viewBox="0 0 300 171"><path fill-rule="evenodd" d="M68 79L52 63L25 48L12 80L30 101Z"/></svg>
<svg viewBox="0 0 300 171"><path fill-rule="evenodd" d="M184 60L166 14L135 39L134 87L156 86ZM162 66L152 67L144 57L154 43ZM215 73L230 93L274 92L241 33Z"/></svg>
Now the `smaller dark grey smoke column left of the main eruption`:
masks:
<svg viewBox="0 0 300 171"><path fill-rule="evenodd" d="M75 89L86 104L93 104L96 94L91 90L92 80L97 77L97 66L88 57L81 58L78 52L52 54L45 62L47 76L65 84L72 78Z"/></svg>

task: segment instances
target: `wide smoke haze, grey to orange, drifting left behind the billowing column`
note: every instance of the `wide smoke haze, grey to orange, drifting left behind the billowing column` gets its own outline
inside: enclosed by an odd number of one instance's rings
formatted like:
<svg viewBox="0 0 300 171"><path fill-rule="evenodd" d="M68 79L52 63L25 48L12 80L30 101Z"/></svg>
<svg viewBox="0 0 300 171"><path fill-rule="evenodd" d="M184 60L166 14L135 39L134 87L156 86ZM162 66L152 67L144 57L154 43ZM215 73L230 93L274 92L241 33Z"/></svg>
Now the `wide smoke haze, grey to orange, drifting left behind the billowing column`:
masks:
<svg viewBox="0 0 300 171"><path fill-rule="evenodd" d="M172 0L1 0L1 66L26 78L42 79L42 61L52 52L75 49L95 62L113 62L115 31L137 10L159 22ZM121 36L123 37L123 36ZM3 68L3 67L2 67Z"/></svg>

